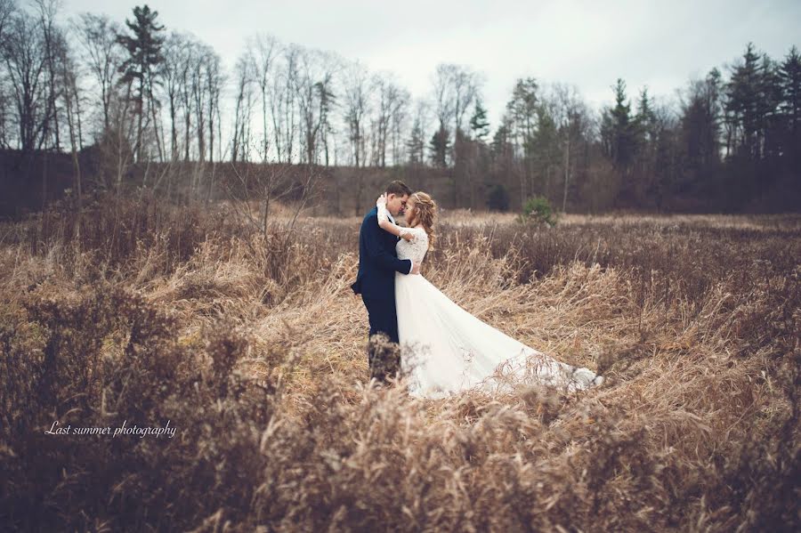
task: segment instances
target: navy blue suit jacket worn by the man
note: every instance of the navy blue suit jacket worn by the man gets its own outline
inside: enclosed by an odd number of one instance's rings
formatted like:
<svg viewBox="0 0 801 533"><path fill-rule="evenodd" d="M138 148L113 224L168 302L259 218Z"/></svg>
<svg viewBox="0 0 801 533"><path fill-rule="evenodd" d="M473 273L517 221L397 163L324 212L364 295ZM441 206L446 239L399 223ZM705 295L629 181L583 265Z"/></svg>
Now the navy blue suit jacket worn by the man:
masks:
<svg viewBox="0 0 801 533"><path fill-rule="evenodd" d="M365 215L359 230L359 274L351 288L376 300L395 299L395 272L409 274L411 261L398 259L398 237L378 226L378 208Z"/></svg>

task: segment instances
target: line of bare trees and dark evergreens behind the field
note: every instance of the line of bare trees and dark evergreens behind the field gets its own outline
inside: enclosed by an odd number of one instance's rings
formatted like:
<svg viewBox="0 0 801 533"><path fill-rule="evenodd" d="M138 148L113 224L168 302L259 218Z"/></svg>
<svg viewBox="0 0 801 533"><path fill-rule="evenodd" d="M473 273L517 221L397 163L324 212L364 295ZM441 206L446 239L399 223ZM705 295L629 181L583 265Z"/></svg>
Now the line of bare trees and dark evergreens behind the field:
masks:
<svg viewBox="0 0 801 533"><path fill-rule="evenodd" d="M310 205L357 214L387 178L473 210L538 196L573 213L788 212L801 199L795 46L774 59L748 43L675 101L617 79L600 111L575 86L521 78L493 125L466 65L440 64L413 98L392 73L267 33L226 70L147 5L125 21L59 10L0 0L0 216L136 188L267 204L314 190Z"/></svg>

